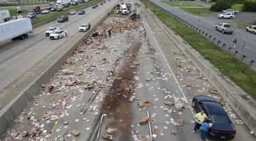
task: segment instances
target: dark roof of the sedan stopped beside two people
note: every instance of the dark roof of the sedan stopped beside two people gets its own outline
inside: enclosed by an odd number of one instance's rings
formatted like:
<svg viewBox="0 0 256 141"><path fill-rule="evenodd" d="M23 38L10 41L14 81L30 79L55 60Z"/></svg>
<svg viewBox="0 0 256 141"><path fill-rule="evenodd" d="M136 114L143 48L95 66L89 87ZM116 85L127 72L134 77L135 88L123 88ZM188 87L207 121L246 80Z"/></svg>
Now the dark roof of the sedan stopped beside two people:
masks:
<svg viewBox="0 0 256 141"><path fill-rule="evenodd" d="M206 108L208 108L208 112L210 115L227 115L221 104L216 102L202 102Z"/></svg>

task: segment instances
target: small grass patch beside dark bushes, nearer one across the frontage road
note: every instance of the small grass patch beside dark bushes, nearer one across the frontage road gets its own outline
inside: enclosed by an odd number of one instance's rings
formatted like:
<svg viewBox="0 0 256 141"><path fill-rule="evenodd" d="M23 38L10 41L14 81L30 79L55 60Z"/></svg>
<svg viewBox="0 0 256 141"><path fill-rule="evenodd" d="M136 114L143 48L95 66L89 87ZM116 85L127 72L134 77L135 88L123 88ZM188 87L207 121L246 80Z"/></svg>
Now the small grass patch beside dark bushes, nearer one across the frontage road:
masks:
<svg viewBox="0 0 256 141"><path fill-rule="evenodd" d="M198 15L198 16L216 16L216 14L214 14L214 12L210 12L209 8L185 8L182 7L180 8L185 12L188 12L190 14L193 15ZM200 14L199 11L200 10Z"/></svg>

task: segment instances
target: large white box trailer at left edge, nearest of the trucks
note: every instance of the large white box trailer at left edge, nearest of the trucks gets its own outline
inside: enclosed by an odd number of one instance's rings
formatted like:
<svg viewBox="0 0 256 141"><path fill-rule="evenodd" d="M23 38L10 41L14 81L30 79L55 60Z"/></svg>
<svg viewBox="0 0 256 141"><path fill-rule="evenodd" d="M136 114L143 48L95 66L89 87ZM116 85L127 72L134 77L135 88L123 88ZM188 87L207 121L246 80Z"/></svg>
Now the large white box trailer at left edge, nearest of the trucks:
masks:
<svg viewBox="0 0 256 141"><path fill-rule="evenodd" d="M0 43L10 39L26 39L27 33L33 33L31 20L29 18L21 18L10 20L0 24Z"/></svg>

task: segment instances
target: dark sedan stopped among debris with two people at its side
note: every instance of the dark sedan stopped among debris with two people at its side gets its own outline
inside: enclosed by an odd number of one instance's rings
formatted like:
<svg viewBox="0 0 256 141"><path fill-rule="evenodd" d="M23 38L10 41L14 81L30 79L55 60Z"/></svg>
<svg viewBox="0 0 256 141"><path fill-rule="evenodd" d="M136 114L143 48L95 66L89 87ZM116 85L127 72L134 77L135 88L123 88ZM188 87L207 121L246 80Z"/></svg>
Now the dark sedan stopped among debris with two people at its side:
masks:
<svg viewBox="0 0 256 141"><path fill-rule="evenodd" d="M215 98L209 96L195 96L193 107L199 113L201 110L212 119L212 127L208 135L216 139L233 139L236 136L236 128L229 119L226 111Z"/></svg>

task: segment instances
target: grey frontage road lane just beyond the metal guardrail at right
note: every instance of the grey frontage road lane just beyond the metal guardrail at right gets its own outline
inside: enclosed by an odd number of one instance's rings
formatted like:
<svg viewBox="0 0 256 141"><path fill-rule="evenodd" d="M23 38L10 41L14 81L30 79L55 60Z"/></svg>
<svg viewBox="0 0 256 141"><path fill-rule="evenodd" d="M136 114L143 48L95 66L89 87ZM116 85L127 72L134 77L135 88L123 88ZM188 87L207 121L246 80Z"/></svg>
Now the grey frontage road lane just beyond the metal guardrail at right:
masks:
<svg viewBox="0 0 256 141"><path fill-rule="evenodd" d="M152 2L160 5L162 8L166 9L169 12L172 12L173 14L176 14L177 16L182 17L184 20L189 21L190 24L193 24L194 26L199 26L199 28L203 29L205 33L210 33L210 35L212 35L213 37L216 37L216 39L224 41L227 45L231 47L233 47L233 40L236 38L238 41L236 48L238 49L238 51L242 50L242 45L246 39L243 39L242 37L239 37L238 35L236 35L236 32L233 35L227 35L227 34L223 35L221 32L215 31L214 26L212 24L208 24L207 22L202 20L199 21L194 16L186 14L179 8L170 7L158 1L152 1ZM221 38L218 38L218 37L221 37ZM244 54L246 54L246 56L249 56L250 58L255 60L255 56L251 52L252 50L253 52L256 51L254 43L252 43L251 41L246 41L246 47L248 47L248 49L244 49Z"/></svg>

